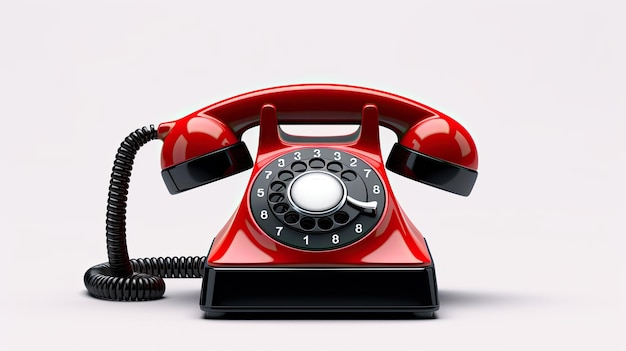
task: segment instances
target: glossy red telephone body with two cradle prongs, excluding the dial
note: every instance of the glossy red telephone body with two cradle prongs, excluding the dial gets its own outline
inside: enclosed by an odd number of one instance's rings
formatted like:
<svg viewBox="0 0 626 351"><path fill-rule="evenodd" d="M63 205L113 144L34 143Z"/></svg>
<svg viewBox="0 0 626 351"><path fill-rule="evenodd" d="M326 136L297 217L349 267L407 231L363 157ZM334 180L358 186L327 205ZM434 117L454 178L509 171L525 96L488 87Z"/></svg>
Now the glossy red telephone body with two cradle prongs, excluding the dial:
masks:
<svg viewBox="0 0 626 351"><path fill-rule="evenodd" d="M305 251L283 245L263 233L250 212L249 193L261 170L278 156L311 144L286 142L278 133L277 111L273 105L262 106L259 152L250 183L236 213L220 231L208 255L215 267L288 266L429 266L431 259L420 232L404 216L389 187L378 137L378 113L374 105L362 106L363 122L359 136L345 143L318 143L315 146L346 151L375 169L385 187L386 207L375 228L361 240L335 250Z"/></svg>

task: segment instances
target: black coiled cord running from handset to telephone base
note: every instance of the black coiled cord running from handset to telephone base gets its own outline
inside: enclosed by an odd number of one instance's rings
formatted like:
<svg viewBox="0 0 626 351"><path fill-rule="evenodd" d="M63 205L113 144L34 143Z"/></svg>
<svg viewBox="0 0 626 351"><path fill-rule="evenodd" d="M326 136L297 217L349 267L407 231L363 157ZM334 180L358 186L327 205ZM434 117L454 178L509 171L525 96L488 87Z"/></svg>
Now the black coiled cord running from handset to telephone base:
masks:
<svg viewBox="0 0 626 351"><path fill-rule="evenodd" d="M90 295L116 301L154 300L165 293L163 278L200 278L206 257L129 259L126 246L126 201L137 151L158 138L153 125L132 132L117 149L107 201L106 237L108 263L85 272Z"/></svg>

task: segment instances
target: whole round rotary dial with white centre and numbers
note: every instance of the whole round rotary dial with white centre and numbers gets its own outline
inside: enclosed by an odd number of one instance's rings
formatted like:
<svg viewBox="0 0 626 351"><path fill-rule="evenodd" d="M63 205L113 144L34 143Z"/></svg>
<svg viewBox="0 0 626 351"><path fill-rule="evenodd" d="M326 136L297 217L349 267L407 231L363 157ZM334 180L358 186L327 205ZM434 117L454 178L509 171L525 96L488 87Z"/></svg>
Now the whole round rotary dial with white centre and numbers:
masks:
<svg viewBox="0 0 626 351"><path fill-rule="evenodd" d="M250 208L263 231L303 250L332 250L369 234L385 206L378 173L365 161L330 148L304 148L262 169Z"/></svg>

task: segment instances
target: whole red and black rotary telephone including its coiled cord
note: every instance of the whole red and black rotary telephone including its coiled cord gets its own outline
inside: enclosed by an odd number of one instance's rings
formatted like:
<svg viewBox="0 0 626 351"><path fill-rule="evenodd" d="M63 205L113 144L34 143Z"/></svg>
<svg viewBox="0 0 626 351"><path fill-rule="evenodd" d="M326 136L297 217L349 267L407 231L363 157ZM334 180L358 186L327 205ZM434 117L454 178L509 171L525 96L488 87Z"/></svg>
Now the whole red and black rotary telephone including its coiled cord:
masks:
<svg viewBox="0 0 626 351"><path fill-rule="evenodd" d="M360 124L350 135L297 137L280 124ZM242 134L260 125L253 163ZM392 172L467 196L478 156L469 133L418 102L367 88L303 84L212 104L144 127L118 149L107 207L109 262L85 273L95 297L149 300L163 277L203 277L208 317L255 312L410 312L439 308L426 241L400 209L379 125L398 136ZM134 155L163 140L172 194L253 168L245 196L206 257L129 260L125 211Z"/></svg>

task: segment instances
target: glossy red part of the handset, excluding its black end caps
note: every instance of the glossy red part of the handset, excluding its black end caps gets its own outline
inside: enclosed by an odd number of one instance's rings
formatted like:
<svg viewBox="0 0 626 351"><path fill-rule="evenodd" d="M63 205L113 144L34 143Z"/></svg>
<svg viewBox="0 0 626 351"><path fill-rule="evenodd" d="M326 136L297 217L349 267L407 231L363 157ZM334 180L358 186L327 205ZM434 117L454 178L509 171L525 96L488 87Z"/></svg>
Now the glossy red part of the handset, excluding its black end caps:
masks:
<svg viewBox="0 0 626 351"><path fill-rule="evenodd" d="M471 169L478 166L474 141L452 118L398 95L338 84L299 84L257 90L163 123L159 126L159 137L164 141L162 166L169 167L233 143L247 129L259 124L261 108L267 104L276 108L282 124L357 124L361 121L362 108L372 104L378 109L380 124L394 131L404 146ZM202 119L221 121L228 128L217 128L224 133L219 138L212 132L191 136L193 131L187 130L189 123ZM198 122L198 125L203 123ZM207 137L207 142L191 142L195 137ZM214 142L209 142L212 137ZM184 152L179 151L182 149Z"/></svg>

